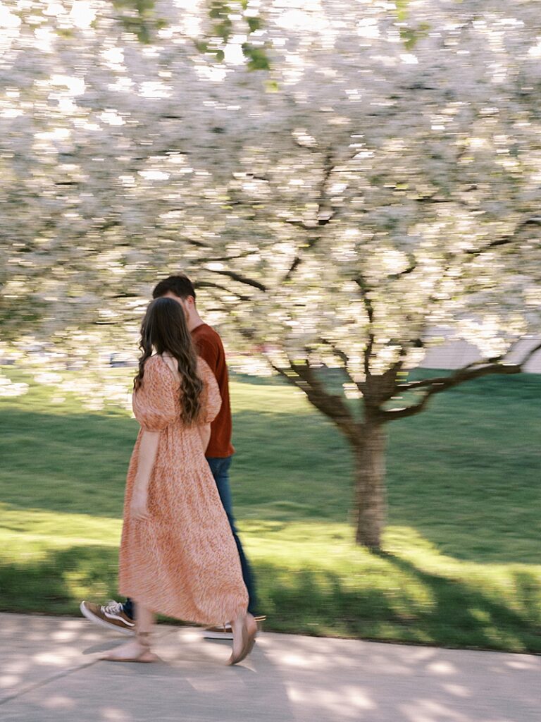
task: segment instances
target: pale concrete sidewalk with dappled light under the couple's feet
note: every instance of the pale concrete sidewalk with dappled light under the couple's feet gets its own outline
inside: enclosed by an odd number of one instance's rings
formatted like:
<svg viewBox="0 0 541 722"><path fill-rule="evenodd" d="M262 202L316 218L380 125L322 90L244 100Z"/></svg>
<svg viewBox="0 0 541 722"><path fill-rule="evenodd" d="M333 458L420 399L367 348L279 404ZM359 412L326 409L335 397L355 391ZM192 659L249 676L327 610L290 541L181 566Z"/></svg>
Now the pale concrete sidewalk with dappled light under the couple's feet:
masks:
<svg viewBox="0 0 541 722"><path fill-rule="evenodd" d="M0 614L2 722L540 722L541 657L263 633L229 643L160 626L159 664L97 653L86 619Z"/></svg>

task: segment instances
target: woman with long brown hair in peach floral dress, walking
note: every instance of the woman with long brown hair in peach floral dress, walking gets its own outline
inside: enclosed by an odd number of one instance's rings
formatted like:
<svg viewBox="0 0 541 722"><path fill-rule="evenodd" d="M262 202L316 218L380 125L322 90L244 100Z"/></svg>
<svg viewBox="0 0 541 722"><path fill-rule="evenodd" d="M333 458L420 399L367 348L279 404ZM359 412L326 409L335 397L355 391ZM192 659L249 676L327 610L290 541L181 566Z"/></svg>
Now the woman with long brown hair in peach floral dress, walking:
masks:
<svg viewBox="0 0 541 722"><path fill-rule="evenodd" d="M237 664L252 650L257 625L205 458L218 384L171 298L149 305L140 347L133 412L141 430L126 482L119 585L136 602L136 638L103 658L156 661L149 634L159 612L203 625L232 619L229 664Z"/></svg>

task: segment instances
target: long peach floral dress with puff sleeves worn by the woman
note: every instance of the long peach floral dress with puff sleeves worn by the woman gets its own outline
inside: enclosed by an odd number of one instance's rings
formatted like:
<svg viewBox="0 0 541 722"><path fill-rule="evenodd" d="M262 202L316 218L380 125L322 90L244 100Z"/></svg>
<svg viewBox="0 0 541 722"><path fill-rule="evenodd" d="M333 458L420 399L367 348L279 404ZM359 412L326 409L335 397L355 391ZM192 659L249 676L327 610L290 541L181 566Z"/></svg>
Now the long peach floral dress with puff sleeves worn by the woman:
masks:
<svg viewBox="0 0 541 722"><path fill-rule="evenodd" d="M221 406L218 384L198 358L201 423ZM152 612L204 625L229 622L248 604L239 554L196 426L180 416L180 383L161 356L146 360L133 393L141 425L131 456L120 544L120 593ZM130 518L144 430L160 431L149 483L149 521Z"/></svg>

